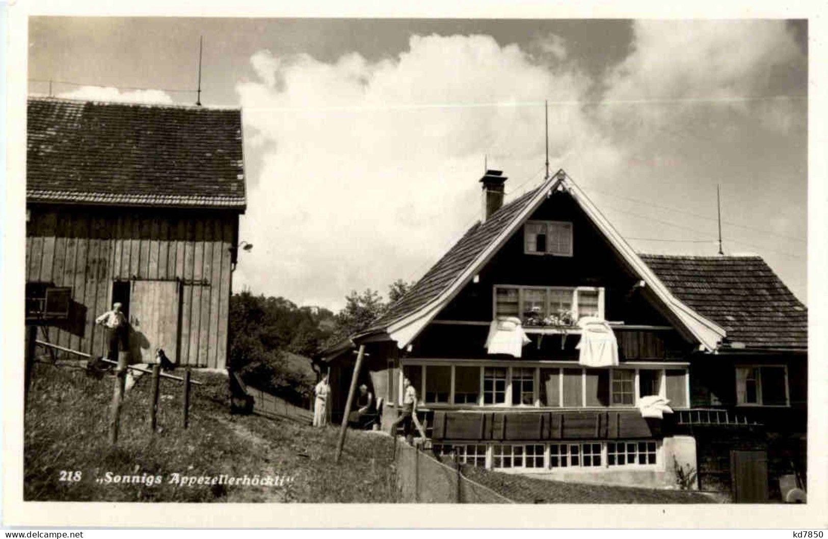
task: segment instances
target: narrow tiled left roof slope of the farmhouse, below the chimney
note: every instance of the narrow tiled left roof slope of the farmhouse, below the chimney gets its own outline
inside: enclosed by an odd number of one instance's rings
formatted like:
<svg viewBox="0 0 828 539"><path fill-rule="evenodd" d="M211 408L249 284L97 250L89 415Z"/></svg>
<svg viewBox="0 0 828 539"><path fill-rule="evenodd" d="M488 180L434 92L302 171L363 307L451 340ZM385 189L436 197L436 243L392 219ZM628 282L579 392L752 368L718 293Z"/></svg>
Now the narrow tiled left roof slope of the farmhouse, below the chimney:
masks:
<svg viewBox="0 0 828 539"><path fill-rule="evenodd" d="M537 189L542 189L538 187ZM514 218L529 205L537 189L531 190L494 212L484 223L474 224L448 253L431 267L412 289L388 308L374 323L385 327L425 306L446 291L469 265L513 223Z"/></svg>

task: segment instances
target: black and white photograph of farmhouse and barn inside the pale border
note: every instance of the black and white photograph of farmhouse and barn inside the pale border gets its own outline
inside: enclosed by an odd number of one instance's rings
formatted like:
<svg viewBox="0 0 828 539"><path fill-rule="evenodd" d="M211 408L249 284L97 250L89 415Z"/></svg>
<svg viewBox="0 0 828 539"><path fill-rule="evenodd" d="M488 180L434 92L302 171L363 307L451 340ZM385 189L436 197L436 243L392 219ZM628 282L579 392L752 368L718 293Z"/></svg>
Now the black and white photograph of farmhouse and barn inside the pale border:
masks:
<svg viewBox="0 0 828 539"><path fill-rule="evenodd" d="M812 503L806 18L26 20L24 505Z"/></svg>

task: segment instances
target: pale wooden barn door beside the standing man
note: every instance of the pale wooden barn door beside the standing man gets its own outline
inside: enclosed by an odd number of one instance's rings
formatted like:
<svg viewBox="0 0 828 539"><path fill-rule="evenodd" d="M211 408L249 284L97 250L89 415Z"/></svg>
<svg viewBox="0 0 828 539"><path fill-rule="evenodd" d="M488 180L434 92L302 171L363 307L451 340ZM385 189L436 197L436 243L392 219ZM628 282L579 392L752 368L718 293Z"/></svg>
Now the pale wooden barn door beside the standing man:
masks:
<svg viewBox="0 0 828 539"><path fill-rule="evenodd" d="M177 281L132 281L129 323L132 359L155 363L156 350L177 362L181 284Z"/></svg>

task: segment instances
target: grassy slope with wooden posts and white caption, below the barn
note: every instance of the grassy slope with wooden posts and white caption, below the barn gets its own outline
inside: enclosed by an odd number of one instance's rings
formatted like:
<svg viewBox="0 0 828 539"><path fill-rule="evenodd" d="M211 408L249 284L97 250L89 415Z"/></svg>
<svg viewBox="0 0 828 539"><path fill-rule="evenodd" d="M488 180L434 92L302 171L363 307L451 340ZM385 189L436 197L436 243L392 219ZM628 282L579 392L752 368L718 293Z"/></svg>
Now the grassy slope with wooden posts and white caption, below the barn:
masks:
<svg viewBox="0 0 828 539"><path fill-rule="evenodd" d="M113 377L39 364L26 412L24 499L146 502L392 502L395 482L389 438L349 432L342 463L334 463L337 432L259 416L231 416L227 379L194 373L207 383L190 394L190 428L181 428L181 386L161 382L155 436L149 431L150 377L140 378L123 406L118 447L107 441ZM77 483L60 470L81 470ZM113 474L161 474L164 482L98 484ZM174 472L292 477L282 487L177 487Z"/></svg>

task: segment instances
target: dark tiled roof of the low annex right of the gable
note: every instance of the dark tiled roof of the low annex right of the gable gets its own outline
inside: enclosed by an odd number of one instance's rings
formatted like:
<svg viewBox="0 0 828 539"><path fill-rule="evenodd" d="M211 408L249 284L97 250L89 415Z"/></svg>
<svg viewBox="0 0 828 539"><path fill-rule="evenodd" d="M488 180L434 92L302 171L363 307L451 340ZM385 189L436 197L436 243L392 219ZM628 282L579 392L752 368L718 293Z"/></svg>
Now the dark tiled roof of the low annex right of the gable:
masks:
<svg viewBox="0 0 828 539"><path fill-rule="evenodd" d="M808 311L761 257L639 255L672 294L751 349L806 349Z"/></svg>

